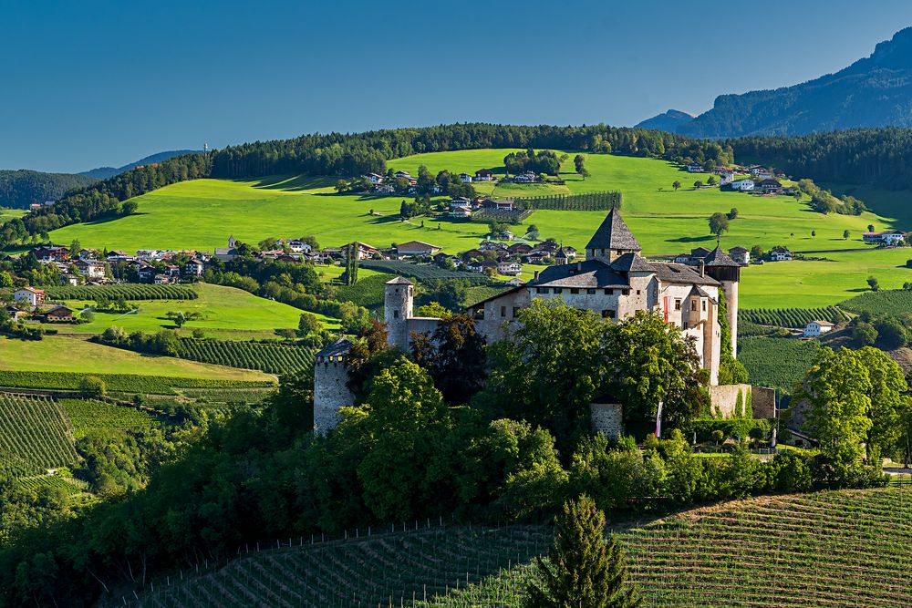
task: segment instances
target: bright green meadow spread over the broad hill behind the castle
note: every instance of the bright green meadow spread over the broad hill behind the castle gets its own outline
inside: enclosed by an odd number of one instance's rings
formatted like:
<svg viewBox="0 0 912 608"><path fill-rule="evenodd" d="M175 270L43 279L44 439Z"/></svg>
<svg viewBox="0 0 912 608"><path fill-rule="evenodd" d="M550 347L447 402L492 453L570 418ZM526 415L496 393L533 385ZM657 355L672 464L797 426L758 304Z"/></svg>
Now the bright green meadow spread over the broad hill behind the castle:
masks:
<svg viewBox="0 0 912 608"><path fill-rule="evenodd" d="M434 152L391 160L395 170L417 174L421 164L432 172L456 172L487 168L503 174L503 157L509 149ZM572 170L571 158L564 169ZM606 154L586 157L591 177L583 180L565 172L564 186L494 187L480 182L476 186L493 196L535 196L553 191L580 193L619 190L623 194L623 214L630 229L643 246L645 255L686 252L692 247L715 246L707 218L716 211L737 208L738 218L721 245L770 249L785 245L795 252L810 253L834 260L828 263L776 263L746 270L741 286L741 303L748 307L775 305L824 305L851 297L853 290L865 287L870 273L878 275L885 286L912 280L912 273L899 266L904 253L867 248L861 233L867 225L876 229L908 227L909 218L892 209L901 209L904 199L879 196L876 211L861 216L822 215L811 211L805 202L791 197L753 196L722 192L718 188L695 190L694 175L662 160L639 159ZM679 180L683 187L674 191ZM420 240L440 245L448 252L461 252L477 245L486 228L470 222L436 222L416 218L399 222L402 197L358 197L338 195L333 179L275 177L263 180L194 180L182 182L137 197L139 212L114 221L77 224L51 234L55 242L78 238L84 245L126 251L137 248L212 250L224 246L230 234L244 242L259 242L266 236L289 237L314 234L321 245L340 245L358 240L375 246L392 242ZM864 200L865 190L856 189ZM381 214L370 215L369 211ZM604 218L601 211L535 211L524 224L535 224L542 238L585 247L596 226ZM843 236L849 231L849 238ZM517 228L514 232L524 232ZM814 233L812 235L812 232ZM845 250L859 250L845 252ZM906 256L912 257L912 252ZM332 271L325 271L329 278Z"/></svg>

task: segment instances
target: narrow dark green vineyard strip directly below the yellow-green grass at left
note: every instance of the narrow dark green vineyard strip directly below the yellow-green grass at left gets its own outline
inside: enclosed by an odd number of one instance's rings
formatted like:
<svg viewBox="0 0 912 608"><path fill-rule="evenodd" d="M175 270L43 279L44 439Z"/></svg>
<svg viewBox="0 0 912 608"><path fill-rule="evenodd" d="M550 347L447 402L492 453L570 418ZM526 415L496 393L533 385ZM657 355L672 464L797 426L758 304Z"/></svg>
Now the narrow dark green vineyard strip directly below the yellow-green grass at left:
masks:
<svg viewBox="0 0 912 608"><path fill-rule="evenodd" d="M77 374L73 372L0 371L0 386L75 391L86 376L101 378L109 391L149 395L174 395L175 388L262 388L274 386L255 380L221 378L184 378L177 376L139 376L134 374Z"/></svg>

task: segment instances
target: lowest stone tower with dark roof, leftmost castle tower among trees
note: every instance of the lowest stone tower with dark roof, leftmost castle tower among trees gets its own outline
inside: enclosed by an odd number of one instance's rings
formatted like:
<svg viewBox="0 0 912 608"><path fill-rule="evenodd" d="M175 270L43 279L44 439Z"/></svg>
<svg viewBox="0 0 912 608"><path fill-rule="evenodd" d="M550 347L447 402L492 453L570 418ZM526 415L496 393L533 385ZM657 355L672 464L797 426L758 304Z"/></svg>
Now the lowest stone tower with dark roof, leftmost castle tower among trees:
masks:
<svg viewBox="0 0 912 608"><path fill-rule="evenodd" d="M339 422L339 408L354 405L348 390L348 351L346 338L326 346L314 356L314 431L326 435Z"/></svg>

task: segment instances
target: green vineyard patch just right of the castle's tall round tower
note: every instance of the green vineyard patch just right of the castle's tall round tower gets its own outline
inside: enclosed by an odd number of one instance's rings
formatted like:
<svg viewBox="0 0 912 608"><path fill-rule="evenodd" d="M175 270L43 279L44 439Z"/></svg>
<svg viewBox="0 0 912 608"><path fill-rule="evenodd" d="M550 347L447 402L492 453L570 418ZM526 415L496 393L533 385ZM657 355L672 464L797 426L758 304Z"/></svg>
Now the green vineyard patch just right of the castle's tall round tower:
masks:
<svg viewBox="0 0 912 608"><path fill-rule="evenodd" d="M752 385L791 393L820 347L816 340L745 338L739 342L738 360L747 367Z"/></svg>

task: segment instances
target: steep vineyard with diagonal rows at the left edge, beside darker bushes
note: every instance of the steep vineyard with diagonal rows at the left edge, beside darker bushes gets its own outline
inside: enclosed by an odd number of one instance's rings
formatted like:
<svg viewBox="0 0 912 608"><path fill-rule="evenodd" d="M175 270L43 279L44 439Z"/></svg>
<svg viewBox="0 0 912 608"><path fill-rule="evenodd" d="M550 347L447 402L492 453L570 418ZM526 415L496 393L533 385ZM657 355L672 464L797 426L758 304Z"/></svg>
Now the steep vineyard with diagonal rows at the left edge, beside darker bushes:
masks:
<svg viewBox="0 0 912 608"><path fill-rule="evenodd" d="M78 458L57 403L48 397L0 393L0 473L37 475Z"/></svg>

